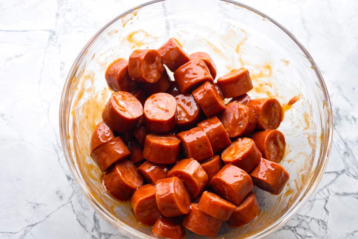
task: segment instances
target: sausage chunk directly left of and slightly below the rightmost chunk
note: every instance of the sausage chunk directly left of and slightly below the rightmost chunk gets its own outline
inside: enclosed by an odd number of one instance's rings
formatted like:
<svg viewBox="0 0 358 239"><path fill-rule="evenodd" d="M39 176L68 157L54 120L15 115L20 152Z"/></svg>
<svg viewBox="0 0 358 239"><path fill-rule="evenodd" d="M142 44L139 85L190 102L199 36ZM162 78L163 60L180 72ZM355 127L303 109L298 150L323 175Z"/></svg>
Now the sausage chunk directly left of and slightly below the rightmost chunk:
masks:
<svg viewBox="0 0 358 239"><path fill-rule="evenodd" d="M251 177L232 164L226 164L211 180L211 186L224 199L235 205L253 189Z"/></svg>

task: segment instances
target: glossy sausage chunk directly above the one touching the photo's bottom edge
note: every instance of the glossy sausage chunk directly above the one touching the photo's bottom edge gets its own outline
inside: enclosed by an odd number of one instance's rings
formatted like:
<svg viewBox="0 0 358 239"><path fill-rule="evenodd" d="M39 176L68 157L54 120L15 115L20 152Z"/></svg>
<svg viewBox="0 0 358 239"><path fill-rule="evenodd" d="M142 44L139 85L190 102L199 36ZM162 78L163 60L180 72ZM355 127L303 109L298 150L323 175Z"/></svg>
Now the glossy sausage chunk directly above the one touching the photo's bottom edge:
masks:
<svg viewBox="0 0 358 239"><path fill-rule="evenodd" d="M190 211L190 195L177 177L156 181L155 197L159 210L167 218L185 215Z"/></svg>

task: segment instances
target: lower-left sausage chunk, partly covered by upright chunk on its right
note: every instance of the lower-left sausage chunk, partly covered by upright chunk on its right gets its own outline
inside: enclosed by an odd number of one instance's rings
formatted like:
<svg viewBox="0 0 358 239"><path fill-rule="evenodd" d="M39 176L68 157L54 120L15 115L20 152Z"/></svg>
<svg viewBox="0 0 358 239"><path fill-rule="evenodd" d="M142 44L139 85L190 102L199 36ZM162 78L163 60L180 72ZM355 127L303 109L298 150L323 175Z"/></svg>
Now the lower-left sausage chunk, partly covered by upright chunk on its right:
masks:
<svg viewBox="0 0 358 239"><path fill-rule="evenodd" d="M151 184L139 187L132 195L131 204L140 223L151 226L162 215L156 205L155 187Z"/></svg>

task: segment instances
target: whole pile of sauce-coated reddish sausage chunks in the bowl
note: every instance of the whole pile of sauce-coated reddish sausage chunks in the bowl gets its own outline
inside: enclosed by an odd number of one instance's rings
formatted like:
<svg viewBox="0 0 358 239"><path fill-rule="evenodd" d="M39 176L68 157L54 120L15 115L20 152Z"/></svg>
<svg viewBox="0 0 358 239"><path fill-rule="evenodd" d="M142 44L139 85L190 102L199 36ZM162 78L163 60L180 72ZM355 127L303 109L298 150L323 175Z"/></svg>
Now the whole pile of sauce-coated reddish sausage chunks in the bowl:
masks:
<svg viewBox="0 0 358 239"><path fill-rule="evenodd" d="M247 69L214 83L211 57L188 55L171 38L158 50L117 59L105 77L114 92L91 155L106 191L131 199L137 220L154 234L180 239L184 226L214 237L223 221L239 227L257 217L253 185L272 194L285 186L289 174L279 163L286 143L276 130L282 108L246 94L253 88Z"/></svg>

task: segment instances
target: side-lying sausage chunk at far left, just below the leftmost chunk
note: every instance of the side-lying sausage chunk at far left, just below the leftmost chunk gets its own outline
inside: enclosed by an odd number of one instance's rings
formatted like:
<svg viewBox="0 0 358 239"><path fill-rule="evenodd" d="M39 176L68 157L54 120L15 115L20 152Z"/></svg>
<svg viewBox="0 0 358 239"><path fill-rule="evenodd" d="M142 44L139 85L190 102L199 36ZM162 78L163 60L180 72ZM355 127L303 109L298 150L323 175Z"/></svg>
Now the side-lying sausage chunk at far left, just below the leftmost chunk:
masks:
<svg viewBox="0 0 358 239"><path fill-rule="evenodd" d="M130 156L130 154L131 152L121 137L116 137L93 151L92 157L101 172L105 172L113 163Z"/></svg>

